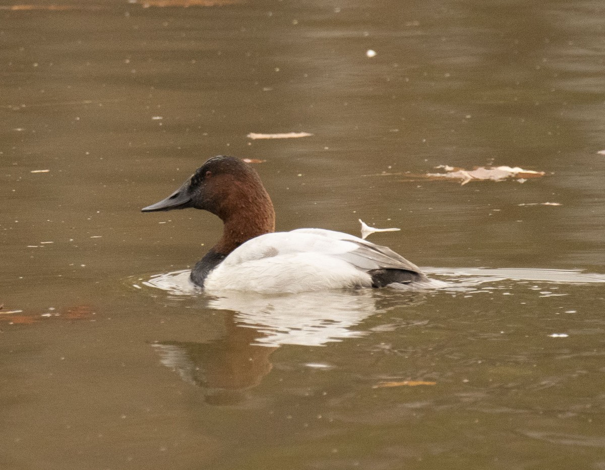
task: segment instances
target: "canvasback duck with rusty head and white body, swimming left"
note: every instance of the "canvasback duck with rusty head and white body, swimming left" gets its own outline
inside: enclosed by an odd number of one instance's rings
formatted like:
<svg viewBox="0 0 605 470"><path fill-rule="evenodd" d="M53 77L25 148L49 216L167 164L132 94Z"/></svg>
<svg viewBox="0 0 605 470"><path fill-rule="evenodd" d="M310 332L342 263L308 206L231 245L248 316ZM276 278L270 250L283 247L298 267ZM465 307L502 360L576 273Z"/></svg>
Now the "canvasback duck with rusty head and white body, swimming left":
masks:
<svg viewBox="0 0 605 470"><path fill-rule="evenodd" d="M212 212L224 223L223 236L191 271L194 284L208 292L405 289L433 282L393 250L347 233L275 232L269 194L255 169L239 158L210 158L177 191L142 211L187 207Z"/></svg>

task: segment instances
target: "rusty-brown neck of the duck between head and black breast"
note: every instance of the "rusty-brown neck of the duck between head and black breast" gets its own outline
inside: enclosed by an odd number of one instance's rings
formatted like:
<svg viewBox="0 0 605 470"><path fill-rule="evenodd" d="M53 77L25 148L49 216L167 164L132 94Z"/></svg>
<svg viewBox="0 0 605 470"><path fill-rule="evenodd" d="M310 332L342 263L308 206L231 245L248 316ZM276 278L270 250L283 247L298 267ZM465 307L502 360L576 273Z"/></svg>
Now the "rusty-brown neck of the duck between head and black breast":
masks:
<svg viewBox="0 0 605 470"><path fill-rule="evenodd" d="M244 204L223 219L223 236L213 247L214 252L228 255L251 238L275 232L275 211L267 195L263 204Z"/></svg>

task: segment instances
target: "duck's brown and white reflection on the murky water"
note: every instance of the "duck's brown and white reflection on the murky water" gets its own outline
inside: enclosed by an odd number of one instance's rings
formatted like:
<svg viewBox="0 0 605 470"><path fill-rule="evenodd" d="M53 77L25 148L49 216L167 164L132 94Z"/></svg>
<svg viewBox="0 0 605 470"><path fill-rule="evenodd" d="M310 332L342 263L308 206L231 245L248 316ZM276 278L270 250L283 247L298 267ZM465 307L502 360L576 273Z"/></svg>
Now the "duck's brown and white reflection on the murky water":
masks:
<svg viewBox="0 0 605 470"><path fill-rule="evenodd" d="M146 285L185 294L180 274L157 276ZM224 336L208 343L163 341L153 346L162 364L202 388L206 402L214 405L242 402L246 391L269 374L270 356L281 345L322 346L359 338L367 333L356 325L381 310L371 290L283 296L229 292L200 301L205 308L226 311Z"/></svg>

